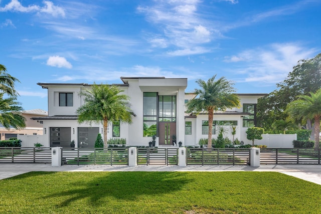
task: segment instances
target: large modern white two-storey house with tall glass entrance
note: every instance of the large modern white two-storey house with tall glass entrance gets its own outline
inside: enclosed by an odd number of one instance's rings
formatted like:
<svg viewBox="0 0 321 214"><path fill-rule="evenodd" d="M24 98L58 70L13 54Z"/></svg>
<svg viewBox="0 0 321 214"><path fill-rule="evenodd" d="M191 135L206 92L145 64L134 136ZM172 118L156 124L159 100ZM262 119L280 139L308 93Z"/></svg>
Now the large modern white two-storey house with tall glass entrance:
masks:
<svg viewBox="0 0 321 214"><path fill-rule="evenodd" d="M133 110L132 123L109 124L107 137L126 139L127 145L147 146L156 135L156 146L172 146L172 136L184 145L198 145L200 138L207 138L206 114L185 114L185 103L195 97L185 93L186 78L165 77L121 77L122 84L115 84L130 97ZM35 117L42 121L45 146L70 147L75 140L76 147L94 147L98 133L102 134L102 124L77 121L76 110L84 103L79 92L90 88L89 84L38 83L48 89L48 116ZM241 107L217 112L214 115L213 138L217 138L217 126L224 125L230 130L237 126L235 138L246 143L245 131L256 123L257 99L266 94L238 94ZM227 135L232 139L231 131Z"/></svg>

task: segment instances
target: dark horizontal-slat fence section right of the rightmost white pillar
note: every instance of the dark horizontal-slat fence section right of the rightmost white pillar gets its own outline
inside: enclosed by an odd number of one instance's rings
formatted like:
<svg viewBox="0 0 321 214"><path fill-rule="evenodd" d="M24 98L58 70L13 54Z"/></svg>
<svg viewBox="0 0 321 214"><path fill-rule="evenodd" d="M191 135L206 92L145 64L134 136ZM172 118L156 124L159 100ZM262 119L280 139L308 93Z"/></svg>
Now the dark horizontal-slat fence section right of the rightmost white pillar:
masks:
<svg viewBox="0 0 321 214"><path fill-rule="evenodd" d="M266 164L320 164L320 149L261 148L260 163Z"/></svg>

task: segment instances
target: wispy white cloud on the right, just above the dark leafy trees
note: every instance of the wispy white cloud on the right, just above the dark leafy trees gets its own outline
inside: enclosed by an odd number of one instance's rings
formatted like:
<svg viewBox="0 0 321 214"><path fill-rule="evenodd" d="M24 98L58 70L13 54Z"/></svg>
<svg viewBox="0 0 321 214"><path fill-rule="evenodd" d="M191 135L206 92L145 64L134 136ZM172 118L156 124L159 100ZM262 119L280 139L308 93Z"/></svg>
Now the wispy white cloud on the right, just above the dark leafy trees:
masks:
<svg viewBox="0 0 321 214"><path fill-rule="evenodd" d="M224 61L237 65L233 72L242 76L238 82L275 84L284 80L299 60L307 59L315 52L296 43L276 43L225 57Z"/></svg>

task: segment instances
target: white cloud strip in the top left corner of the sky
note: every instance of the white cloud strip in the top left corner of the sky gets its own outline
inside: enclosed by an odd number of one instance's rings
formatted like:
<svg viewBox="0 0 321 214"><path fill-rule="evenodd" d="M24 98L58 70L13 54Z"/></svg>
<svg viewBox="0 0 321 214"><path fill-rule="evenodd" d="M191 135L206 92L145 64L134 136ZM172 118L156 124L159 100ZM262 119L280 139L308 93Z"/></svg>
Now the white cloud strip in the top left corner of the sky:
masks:
<svg viewBox="0 0 321 214"><path fill-rule="evenodd" d="M11 0L11 2L8 3L4 8L0 8L0 12L7 12L7 11L23 12L23 13L37 12L37 13L50 14L54 17L58 17L58 16L65 17L64 9L58 6L54 6L54 4L50 1L44 1L43 3L45 4L44 7L40 7L37 5L29 5L27 7L24 7L18 0Z"/></svg>

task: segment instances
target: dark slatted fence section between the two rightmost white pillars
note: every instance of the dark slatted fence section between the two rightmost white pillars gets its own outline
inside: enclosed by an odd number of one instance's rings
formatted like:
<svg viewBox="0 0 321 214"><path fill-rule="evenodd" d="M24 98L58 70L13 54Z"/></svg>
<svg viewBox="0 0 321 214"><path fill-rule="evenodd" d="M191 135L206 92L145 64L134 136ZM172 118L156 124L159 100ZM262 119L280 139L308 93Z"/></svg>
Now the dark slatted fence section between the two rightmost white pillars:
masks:
<svg viewBox="0 0 321 214"><path fill-rule="evenodd" d="M249 148L187 148L187 165L249 165Z"/></svg>

